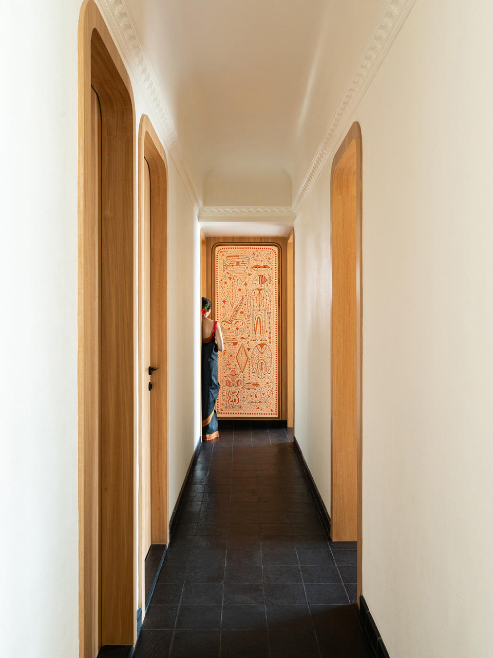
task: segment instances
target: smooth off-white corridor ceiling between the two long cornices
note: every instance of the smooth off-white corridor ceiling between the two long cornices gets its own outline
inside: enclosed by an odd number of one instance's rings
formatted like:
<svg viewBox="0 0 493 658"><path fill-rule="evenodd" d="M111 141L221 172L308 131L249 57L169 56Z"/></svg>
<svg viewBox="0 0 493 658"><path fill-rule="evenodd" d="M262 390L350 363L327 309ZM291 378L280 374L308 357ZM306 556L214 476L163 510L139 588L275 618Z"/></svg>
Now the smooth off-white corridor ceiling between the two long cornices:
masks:
<svg viewBox="0 0 493 658"><path fill-rule="evenodd" d="M204 203L288 205L383 0L128 1Z"/></svg>

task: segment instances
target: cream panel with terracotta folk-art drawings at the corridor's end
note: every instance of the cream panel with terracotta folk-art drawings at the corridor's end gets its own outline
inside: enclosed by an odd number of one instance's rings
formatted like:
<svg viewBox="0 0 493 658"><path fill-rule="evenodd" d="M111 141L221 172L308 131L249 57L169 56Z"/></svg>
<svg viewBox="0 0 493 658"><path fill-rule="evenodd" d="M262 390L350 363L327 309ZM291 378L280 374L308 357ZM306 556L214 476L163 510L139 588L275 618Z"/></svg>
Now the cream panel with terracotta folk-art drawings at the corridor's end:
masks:
<svg viewBox="0 0 493 658"><path fill-rule="evenodd" d="M275 246L216 247L220 418L277 417L278 263Z"/></svg>

